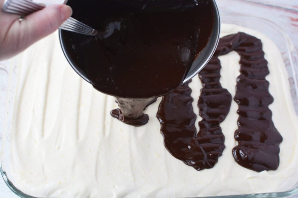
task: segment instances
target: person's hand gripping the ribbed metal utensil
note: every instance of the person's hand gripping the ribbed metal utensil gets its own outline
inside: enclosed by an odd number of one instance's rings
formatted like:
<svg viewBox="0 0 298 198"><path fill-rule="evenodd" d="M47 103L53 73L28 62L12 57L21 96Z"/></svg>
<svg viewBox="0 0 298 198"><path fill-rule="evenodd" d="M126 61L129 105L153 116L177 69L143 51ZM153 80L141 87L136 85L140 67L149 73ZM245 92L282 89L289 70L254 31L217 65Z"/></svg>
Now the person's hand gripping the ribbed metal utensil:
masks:
<svg viewBox="0 0 298 198"><path fill-rule="evenodd" d="M0 0L0 8L3 2ZM0 61L53 33L71 15L72 9L64 4L50 5L21 21L20 16L0 10Z"/></svg>

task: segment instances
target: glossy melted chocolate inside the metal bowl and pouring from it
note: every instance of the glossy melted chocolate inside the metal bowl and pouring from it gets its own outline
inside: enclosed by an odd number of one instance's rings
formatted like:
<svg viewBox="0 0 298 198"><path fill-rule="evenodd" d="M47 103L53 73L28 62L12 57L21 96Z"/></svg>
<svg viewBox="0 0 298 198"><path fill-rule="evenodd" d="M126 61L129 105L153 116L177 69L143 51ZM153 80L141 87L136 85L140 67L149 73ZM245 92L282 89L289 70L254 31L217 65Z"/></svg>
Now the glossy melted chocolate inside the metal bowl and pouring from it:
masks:
<svg viewBox="0 0 298 198"><path fill-rule="evenodd" d="M67 2L101 38L62 31L66 53L98 91L115 96L112 116L140 126L144 107L183 82L214 27L210 0Z"/></svg>

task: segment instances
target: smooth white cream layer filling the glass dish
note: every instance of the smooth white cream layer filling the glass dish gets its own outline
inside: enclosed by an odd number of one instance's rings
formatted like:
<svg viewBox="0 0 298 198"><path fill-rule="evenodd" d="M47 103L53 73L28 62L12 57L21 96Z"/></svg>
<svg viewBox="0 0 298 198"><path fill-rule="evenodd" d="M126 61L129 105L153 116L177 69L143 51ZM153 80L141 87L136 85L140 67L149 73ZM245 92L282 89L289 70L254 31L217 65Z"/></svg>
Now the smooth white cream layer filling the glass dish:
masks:
<svg viewBox="0 0 298 198"><path fill-rule="evenodd" d="M232 149L238 144L238 105L232 101L221 123L223 154L211 169L201 171L174 158L164 147L156 118L159 102L145 113L148 124L126 125L112 118L112 96L96 91L79 77L64 57L57 32L18 57L18 81L11 132L11 170L18 187L36 197L198 197L279 192L298 178L298 118L291 100L283 59L263 34L223 24L221 36L251 34L263 42L270 74L269 106L283 137L276 171L254 172L238 165ZM240 59L236 52L219 57L223 88L235 96ZM170 73L169 73L170 75ZM189 84L198 115L202 85L198 76Z"/></svg>

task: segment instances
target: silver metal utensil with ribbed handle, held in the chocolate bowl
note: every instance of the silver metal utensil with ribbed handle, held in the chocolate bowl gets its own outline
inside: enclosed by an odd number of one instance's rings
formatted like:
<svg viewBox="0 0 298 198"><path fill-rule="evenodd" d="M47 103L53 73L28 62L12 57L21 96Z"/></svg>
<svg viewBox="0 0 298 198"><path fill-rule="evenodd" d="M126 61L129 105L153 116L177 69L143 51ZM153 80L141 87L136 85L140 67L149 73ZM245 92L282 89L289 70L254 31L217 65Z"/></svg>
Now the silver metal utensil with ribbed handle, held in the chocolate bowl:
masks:
<svg viewBox="0 0 298 198"><path fill-rule="evenodd" d="M27 16L33 12L44 9L44 7L44 5L37 4L30 0L5 0L1 10L6 13ZM59 28L91 36L97 36L98 34L97 30L72 17L69 17Z"/></svg>

